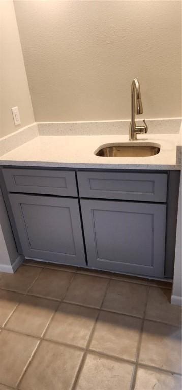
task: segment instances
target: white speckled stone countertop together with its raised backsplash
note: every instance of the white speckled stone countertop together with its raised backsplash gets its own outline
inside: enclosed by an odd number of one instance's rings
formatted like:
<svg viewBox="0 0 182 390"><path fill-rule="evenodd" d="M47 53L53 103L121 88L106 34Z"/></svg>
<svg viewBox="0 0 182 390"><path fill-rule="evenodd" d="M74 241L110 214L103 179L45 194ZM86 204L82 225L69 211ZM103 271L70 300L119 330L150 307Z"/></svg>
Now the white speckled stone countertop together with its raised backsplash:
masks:
<svg viewBox="0 0 182 390"><path fill-rule="evenodd" d="M148 133L137 135L137 141L128 140L129 121L33 123L0 139L0 165L180 170L180 123L180 119L148 120ZM102 145L120 143L157 144L160 152L150 157L96 156Z"/></svg>

